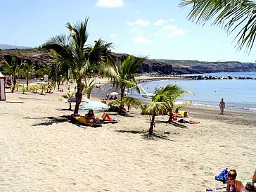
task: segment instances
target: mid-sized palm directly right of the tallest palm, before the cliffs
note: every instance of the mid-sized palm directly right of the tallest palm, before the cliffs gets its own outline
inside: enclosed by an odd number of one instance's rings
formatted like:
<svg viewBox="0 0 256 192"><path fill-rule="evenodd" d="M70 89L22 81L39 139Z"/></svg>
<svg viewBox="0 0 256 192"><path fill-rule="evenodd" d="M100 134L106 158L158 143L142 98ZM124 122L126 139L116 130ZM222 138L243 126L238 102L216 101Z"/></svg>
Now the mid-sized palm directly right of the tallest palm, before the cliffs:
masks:
<svg viewBox="0 0 256 192"><path fill-rule="evenodd" d="M143 90L136 82L135 75L146 58L147 57L139 58L128 56L127 58L121 60L119 70L113 58L110 56L108 57L108 66L110 66L110 68L107 68L108 77L110 77L111 82L113 82L113 88L120 89L121 99L124 97L125 89L135 88L138 92Z"/></svg>

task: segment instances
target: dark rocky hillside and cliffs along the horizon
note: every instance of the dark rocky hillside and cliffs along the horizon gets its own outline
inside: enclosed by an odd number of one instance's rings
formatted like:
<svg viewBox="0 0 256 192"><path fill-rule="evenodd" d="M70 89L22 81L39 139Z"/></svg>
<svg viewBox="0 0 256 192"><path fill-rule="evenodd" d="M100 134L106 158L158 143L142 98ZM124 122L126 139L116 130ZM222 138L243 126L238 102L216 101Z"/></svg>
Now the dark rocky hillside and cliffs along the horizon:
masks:
<svg viewBox="0 0 256 192"><path fill-rule="evenodd" d="M120 56L128 56L127 54L121 53L112 53L112 55L118 65L120 65ZM0 51L0 60L5 59L8 62L11 62L12 56L16 56L19 60L27 60L27 62L34 65L36 69L39 69L41 65L51 61L48 51L40 51L38 49ZM139 73L150 73L151 75L250 71L256 71L256 63L241 63L238 61L202 62L198 60L165 59L148 59L139 69Z"/></svg>

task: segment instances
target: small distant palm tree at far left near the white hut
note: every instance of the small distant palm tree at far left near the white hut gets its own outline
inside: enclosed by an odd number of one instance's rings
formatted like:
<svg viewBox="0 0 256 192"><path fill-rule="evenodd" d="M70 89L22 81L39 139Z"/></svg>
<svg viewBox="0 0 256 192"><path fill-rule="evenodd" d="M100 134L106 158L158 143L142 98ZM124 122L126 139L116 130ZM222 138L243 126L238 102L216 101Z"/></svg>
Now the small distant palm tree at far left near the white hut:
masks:
<svg viewBox="0 0 256 192"><path fill-rule="evenodd" d="M1 65L4 65L4 73L13 76L13 86L11 89L11 92L13 93L16 83L17 83L16 79L18 77L18 73L20 72L20 65L18 63L18 60L17 60L17 58L12 57L11 65L9 65L9 63L6 60L3 60Z"/></svg>

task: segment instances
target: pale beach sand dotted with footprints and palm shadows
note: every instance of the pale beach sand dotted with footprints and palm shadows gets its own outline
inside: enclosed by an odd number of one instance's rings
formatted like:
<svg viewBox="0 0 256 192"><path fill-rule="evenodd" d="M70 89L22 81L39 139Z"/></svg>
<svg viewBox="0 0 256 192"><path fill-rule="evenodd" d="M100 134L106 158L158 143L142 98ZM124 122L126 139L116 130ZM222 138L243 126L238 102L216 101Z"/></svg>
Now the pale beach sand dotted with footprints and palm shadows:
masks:
<svg viewBox="0 0 256 192"><path fill-rule="evenodd" d="M110 89L101 83L93 100ZM139 109L110 113L120 122L98 128L73 124L62 94L19 91L14 103L0 101L0 191L205 191L225 186L215 181L225 167L241 180L255 171L255 113L190 105L199 124L175 127L158 116L148 137Z"/></svg>

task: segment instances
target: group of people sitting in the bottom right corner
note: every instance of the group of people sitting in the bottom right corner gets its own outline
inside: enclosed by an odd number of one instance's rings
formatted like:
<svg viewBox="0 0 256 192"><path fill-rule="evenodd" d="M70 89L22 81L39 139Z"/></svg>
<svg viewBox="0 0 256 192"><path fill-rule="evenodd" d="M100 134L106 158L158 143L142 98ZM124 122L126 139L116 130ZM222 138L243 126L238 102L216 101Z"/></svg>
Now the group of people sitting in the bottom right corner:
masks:
<svg viewBox="0 0 256 192"><path fill-rule="evenodd" d="M255 192L256 191L256 170L252 176L252 181L248 182L245 186L243 186L242 181L236 180L236 170L229 170L226 177L226 191L224 192Z"/></svg>

